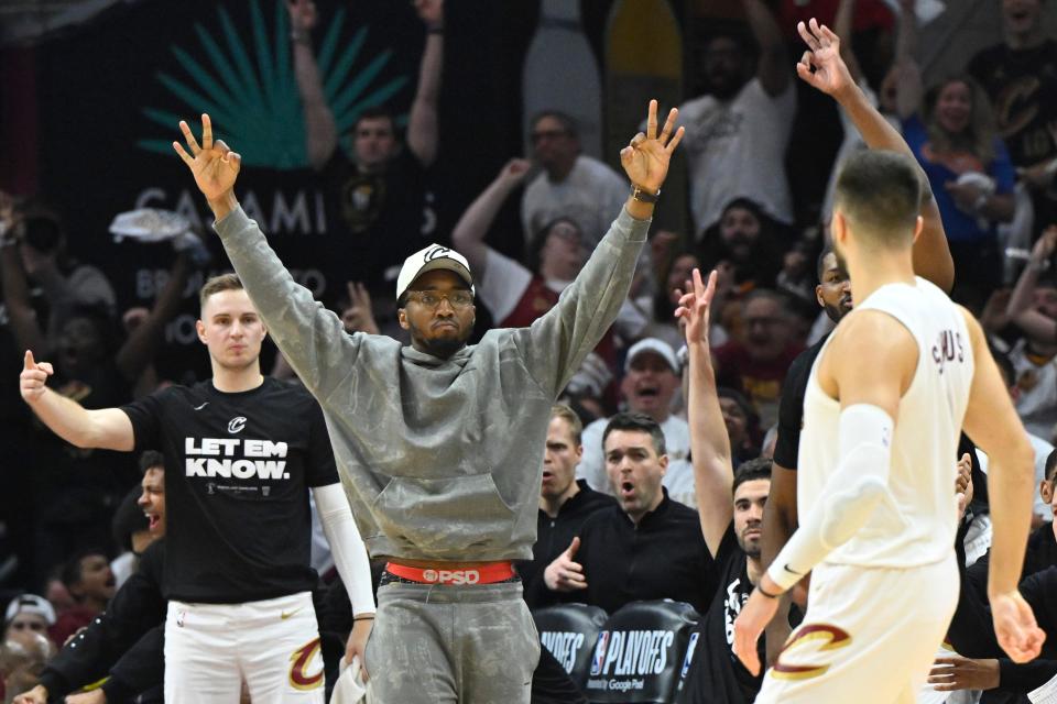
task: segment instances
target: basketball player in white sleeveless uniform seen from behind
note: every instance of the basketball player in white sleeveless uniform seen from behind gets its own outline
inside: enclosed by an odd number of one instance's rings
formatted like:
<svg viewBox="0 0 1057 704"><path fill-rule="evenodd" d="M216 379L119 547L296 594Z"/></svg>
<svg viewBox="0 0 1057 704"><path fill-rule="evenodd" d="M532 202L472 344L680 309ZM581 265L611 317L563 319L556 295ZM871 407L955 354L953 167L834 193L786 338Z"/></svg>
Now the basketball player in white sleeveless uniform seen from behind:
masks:
<svg viewBox="0 0 1057 704"><path fill-rule="evenodd" d="M827 28L813 20L811 30L815 53L838 50ZM800 72L810 64L809 52ZM998 453L989 596L999 642L1024 662L1045 638L1016 590L1032 516L1032 449L979 323L914 276L920 188L908 157L882 151L852 156L837 180L832 237L856 309L808 380L799 528L734 624L734 651L759 672L756 639L778 597L813 572L804 623L764 678L758 704L915 701L958 600L950 487L962 428Z"/></svg>

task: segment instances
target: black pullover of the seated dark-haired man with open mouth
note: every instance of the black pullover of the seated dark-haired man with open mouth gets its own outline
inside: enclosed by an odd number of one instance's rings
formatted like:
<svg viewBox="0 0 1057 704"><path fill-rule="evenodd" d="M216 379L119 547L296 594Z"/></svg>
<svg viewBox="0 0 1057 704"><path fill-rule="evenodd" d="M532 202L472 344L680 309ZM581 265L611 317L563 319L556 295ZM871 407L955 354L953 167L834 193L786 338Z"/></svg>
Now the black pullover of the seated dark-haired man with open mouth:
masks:
<svg viewBox="0 0 1057 704"><path fill-rule="evenodd" d="M668 498L639 521L614 505L580 529L574 558L584 565L587 588L551 592L560 602L582 602L612 614L629 602L671 598L705 613L716 593L712 557L697 512Z"/></svg>

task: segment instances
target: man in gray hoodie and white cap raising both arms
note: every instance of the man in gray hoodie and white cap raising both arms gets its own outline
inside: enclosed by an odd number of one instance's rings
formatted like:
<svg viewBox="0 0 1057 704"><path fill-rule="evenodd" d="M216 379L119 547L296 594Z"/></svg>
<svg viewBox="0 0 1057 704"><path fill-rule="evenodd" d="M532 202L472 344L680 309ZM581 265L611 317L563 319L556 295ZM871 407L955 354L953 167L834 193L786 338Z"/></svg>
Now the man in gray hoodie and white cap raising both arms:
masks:
<svg viewBox="0 0 1057 704"><path fill-rule="evenodd" d="M621 151L623 210L558 305L532 327L467 345L473 286L466 260L439 245L397 279L411 346L347 334L294 283L235 198L240 156L201 145L185 122L195 176L246 290L323 407L338 473L373 558L389 561L363 663L373 701L528 702L540 640L512 560L532 558L551 406L628 295L668 161L676 111Z"/></svg>

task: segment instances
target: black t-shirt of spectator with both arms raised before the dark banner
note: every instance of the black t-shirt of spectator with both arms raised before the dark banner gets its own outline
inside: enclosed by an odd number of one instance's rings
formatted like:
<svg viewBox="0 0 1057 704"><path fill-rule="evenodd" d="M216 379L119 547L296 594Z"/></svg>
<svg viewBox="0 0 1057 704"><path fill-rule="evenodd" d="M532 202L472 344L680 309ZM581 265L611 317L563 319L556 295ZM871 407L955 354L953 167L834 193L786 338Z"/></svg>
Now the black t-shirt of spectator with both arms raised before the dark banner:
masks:
<svg viewBox="0 0 1057 704"><path fill-rule="evenodd" d="M425 169L407 148L384 172L363 174L340 148L323 168L327 198L328 288L364 282L371 293L394 295L404 260L433 240L432 194Z"/></svg>

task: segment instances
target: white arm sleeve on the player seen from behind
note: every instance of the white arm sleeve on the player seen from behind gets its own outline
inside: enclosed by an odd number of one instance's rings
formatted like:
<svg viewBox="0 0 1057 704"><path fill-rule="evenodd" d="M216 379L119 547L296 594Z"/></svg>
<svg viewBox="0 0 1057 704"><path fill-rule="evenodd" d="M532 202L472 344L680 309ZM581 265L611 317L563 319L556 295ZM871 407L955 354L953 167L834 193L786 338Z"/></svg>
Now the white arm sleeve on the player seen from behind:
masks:
<svg viewBox="0 0 1057 704"><path fill-rule="evenodd" d="M830 552L851 540L889 488L892 417L871 404L840 411L837 469L813 510L771 563L767 575L791 588Z"/></svg>

